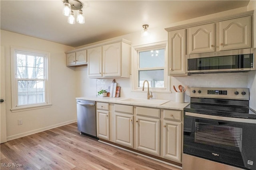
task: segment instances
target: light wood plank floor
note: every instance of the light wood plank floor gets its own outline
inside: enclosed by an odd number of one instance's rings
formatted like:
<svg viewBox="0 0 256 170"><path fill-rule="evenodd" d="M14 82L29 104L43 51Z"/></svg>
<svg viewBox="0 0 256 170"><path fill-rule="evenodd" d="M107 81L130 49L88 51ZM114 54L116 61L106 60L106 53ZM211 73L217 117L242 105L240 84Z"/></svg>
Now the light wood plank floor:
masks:
<svg viewBox="0 0 256 170"><path fill-rule="evenodd" d="M1 170L180 170L79 135L76 123L8 141L0 151Z"/></svg>

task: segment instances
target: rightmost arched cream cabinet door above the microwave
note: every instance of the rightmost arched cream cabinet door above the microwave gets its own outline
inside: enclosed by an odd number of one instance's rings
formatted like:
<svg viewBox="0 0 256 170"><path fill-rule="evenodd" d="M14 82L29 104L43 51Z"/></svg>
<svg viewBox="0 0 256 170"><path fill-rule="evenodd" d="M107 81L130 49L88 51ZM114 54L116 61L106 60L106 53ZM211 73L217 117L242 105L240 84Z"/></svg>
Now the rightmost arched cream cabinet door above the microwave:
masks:
<svg viewBox="0 0 256 170"><path fill-rule="evenodd" d="M220 22L220 51L251 47L251 16Z"/></svg>

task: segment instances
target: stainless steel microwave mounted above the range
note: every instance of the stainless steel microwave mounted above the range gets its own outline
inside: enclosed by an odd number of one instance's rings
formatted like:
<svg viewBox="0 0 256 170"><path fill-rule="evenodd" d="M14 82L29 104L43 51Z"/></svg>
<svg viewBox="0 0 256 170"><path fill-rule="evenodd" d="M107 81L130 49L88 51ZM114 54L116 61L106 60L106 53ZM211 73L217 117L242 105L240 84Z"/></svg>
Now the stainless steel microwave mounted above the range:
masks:
<svg viewBox="0 0 256 170"><path fill-rule="evenodd" d="M246 72L256 70L256 48L186 55L186 72Z"/></svg>

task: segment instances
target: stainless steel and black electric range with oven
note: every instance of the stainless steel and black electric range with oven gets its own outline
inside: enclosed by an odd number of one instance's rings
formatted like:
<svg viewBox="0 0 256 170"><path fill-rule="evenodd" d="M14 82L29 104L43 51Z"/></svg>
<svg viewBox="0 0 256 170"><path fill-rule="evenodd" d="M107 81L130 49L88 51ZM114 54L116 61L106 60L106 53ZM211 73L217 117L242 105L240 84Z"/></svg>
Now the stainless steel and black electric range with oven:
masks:
<svg viewBox="0 0 256 170"><path fill-rule="evenodd" d="M249 108L249 89L190 88L190 97L182 169L256 170L256 113Z"/></svg>

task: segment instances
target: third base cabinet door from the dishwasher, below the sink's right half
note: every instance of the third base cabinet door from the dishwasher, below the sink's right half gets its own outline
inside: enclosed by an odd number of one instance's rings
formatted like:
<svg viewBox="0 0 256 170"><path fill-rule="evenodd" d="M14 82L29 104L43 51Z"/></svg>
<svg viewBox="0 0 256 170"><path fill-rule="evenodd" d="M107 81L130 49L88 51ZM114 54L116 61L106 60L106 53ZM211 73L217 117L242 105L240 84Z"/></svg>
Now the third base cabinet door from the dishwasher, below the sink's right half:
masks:
<svg viewBox="0 0 256 170"><path fill-rule="evenodd" d="M160 120L137 116L137 121L136 149L159 156Z"/></svg>

